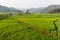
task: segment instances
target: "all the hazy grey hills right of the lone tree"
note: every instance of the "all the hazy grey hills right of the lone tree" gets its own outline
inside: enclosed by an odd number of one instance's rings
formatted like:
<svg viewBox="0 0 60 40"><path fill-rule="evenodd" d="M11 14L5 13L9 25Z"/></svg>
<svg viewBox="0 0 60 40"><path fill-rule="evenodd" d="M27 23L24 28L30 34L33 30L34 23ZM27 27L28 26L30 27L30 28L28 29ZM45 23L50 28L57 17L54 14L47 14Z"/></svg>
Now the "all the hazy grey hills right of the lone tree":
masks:
<svg viewBox="0 0 60 40"><path fill-rule="evenodd" d="M31 8L27 9L30 12L49 12L50 10L58 9L60 8L60 5L49 5L48 7L40 7L40 8Z"/></svg>

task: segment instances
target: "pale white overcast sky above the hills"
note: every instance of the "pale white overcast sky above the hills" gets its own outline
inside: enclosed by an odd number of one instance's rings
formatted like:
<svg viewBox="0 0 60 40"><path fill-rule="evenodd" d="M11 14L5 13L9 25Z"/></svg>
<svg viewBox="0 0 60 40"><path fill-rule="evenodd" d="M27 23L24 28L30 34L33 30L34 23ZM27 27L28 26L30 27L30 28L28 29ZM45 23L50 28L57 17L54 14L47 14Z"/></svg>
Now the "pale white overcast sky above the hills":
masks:
<svg viewBox="0 0 60 40"><path fill-rule="evenodd" d="M15 8L38 8L48 5L59 5L60 0L0 0L0 5Z"/></svg>

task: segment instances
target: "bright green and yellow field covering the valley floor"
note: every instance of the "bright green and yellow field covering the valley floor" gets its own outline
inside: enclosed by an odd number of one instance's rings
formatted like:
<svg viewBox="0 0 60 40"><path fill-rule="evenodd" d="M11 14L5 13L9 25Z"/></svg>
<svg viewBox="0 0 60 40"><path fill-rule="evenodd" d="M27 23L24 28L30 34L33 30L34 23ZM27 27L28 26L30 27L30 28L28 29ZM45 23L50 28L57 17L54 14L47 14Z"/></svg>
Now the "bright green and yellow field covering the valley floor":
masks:
<svg viewBox="0 0 60 40"><path fill-rule="evenodd" d="M4 16L6 17L6 16ZM58 26L58 38L53 21ZM60 40L60 14L23 14L0 20L0 40Z"/></svg>

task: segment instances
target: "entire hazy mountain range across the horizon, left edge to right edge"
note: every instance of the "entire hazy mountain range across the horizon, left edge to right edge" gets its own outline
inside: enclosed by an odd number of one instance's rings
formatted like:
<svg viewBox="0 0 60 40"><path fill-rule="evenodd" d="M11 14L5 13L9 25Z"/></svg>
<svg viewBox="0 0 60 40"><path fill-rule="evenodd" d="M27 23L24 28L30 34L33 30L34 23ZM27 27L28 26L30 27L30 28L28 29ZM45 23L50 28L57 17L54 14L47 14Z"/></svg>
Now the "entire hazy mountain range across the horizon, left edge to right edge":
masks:
<svg viewBox="0 0 60 40"><path fill-rule="evenodd" d="M26 10L29 10L29 12L49 12L50 10L54 10L60 8L60 5L49 5L48 7L40 7L40 8L30 8L30 9L16 9L16 8L9 8L6 6L0 5L0 12L25 12Z"/></svg>

